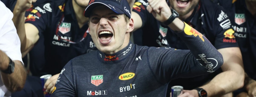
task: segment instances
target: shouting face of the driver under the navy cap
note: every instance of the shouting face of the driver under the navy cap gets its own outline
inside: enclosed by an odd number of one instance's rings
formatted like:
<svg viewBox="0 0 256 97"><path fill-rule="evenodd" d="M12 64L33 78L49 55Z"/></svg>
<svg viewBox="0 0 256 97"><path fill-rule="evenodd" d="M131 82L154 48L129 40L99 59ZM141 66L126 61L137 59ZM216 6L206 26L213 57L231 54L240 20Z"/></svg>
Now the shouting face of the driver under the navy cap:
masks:
<svg viewBox="0 0 256 97"><path fill-rule="evenodd" d="M125 15L118 15L105 5L92 10L88 31L95 46L103 53L115 53L124 48L129 41L129 32L133 30L125 22ZM133 24L133 23L132 23ZM128 35L128 36L127 36ZM127 40L128 39L128 40Z"/></svg>

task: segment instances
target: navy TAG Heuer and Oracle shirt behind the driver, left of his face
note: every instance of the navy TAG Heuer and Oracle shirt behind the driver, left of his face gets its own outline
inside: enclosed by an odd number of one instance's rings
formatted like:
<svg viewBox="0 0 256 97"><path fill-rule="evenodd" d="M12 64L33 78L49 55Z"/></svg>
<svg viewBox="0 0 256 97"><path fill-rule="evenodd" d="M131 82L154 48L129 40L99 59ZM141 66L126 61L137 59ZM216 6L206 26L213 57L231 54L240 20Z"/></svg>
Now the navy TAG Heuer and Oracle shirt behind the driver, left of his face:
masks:
<svg viewBox="0 0 256 97"><path fill-rule="evenodd" d="M88 24L79 28L72 0L34 6L26 11L26 16L25 23L35 25L40 37L29 53L34 76L60 73L72 58L97 49Z"/></svg>

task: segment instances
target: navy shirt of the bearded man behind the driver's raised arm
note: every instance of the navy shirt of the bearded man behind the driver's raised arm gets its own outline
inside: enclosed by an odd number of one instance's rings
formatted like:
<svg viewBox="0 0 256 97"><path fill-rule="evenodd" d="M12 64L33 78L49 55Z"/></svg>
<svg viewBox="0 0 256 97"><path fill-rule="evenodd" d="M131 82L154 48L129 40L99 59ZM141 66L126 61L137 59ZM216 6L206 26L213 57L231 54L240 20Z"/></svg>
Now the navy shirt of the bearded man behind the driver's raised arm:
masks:
<svg viewBox="0 0 256 97"><path fill-rule="evenodd" d="M133 11L138 13L142 19L142 28L133 33L135 44L154 47L173 47L187 50L188 47L174 31L169 27L161 25L161 23L147 11L147 5L147 0L136 0L133 5ZM231 21L226 11L219 5L213 4L210 0L200 0L192 15L186 19L185 22L207 37L216 49L238 47ZM171 86L179 85L183 86L184 89L194 89L198 86L202 86L220 72L221 69L211 75L172 80L169 84L170 88L168 88L167 96L169 96L171 92Z"/></svg>

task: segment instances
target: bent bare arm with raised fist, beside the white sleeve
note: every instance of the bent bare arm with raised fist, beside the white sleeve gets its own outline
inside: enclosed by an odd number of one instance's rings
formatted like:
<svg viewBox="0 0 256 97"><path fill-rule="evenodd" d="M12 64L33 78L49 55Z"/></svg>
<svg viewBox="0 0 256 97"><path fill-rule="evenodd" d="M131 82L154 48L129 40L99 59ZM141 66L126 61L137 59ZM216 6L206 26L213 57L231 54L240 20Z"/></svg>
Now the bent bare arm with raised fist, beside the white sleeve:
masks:
<svg viewBox="0 0 256 97"><path fill-rule="evenodd" d="M13 10L12 21L21 41L21 52L28 52L39 39L39 31L32 24L25 24L25 10L31 6L32 0L18 0Z"/></svg>

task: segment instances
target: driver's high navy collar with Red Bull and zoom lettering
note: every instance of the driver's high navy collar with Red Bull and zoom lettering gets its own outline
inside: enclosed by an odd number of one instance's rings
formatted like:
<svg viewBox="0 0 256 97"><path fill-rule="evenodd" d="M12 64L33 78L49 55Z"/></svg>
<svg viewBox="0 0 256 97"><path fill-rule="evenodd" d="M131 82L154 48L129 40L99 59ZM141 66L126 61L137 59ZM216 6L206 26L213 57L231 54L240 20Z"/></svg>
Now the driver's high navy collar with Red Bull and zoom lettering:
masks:
<svg viewBox="0 0 256 97"><path fill-rule="evenodd" d="M98 50L98 59L103 63L117 63L127 58L132 52L134 52L135 44L129 42L129 44L113 54L106 54Z"/></svg>

